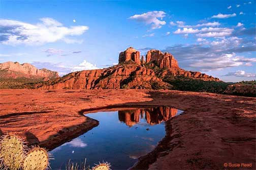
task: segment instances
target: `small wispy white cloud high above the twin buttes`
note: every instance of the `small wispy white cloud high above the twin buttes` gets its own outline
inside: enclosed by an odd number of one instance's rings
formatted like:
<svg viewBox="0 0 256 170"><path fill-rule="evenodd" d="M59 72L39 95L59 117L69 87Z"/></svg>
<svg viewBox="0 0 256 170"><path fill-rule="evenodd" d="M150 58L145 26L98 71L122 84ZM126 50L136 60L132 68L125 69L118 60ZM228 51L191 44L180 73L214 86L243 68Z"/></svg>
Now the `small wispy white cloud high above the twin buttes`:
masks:
<svg viewBox="0 0 256 170"><path fill-rule="evenodd" d="M163 18L166 16L164 11L151 11L143 14L136 14L131 16L130 19L134 19L138 22L143 22L146 25L151 24L151 29L161 28L166 24ZM160 19L160 20L159 20Z"/></svg>

